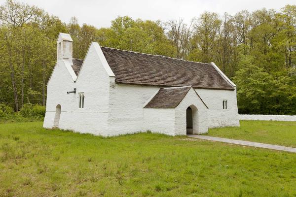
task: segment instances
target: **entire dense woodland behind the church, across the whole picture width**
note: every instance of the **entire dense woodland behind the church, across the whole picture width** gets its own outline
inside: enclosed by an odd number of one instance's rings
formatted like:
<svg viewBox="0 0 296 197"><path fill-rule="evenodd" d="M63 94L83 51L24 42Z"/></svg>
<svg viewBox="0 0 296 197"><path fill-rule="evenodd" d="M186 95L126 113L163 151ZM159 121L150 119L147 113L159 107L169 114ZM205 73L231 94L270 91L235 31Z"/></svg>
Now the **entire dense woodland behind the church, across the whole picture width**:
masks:
<svg viewBox="0 0 296 197"><path fill-rule="evenodd" d="M237 85L240 113L296 115L296 5L252 13L204 12L149 21L118 16L110 28L79 26L33 5L0 6L0 103L20 110L46 104L46 83L56 62L59 32L70 33L73 56L83 59L91 41L101 46L198 62L215 62Z"/></svg>

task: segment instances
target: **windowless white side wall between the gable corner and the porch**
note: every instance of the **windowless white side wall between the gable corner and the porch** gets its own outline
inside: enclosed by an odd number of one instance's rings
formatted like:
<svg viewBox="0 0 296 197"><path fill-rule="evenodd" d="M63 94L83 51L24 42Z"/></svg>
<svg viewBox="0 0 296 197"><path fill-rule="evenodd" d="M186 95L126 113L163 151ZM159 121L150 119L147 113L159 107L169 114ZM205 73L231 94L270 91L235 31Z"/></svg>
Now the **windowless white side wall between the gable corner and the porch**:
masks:
<svg viewBox="0 0 296 197"><path fill-rule="evenodd" d="M110 88L108 127L111 135L151 130L144 124L144 106L158 87L113 84Z"/></svg>

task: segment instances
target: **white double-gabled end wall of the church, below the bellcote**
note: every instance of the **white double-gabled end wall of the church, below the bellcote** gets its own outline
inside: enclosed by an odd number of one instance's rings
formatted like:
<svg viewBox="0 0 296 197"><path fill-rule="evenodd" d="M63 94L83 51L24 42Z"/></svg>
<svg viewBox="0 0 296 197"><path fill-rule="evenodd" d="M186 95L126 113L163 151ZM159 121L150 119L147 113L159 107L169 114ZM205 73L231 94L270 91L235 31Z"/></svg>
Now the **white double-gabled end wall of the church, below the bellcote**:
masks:
<svg viewBox="0 0 296 197"><path fill-rule="evenodd" d="M109 88L113 80L103 66L97 43L92 43L74 81L65 65L58 60L47 84L46 114L43 127L52 128L57 104L61 105L59 128L96 135L109 135ZM76 94L67 94L76 88ZM84 108L79 108L79 93L83 93Z"/></svg>

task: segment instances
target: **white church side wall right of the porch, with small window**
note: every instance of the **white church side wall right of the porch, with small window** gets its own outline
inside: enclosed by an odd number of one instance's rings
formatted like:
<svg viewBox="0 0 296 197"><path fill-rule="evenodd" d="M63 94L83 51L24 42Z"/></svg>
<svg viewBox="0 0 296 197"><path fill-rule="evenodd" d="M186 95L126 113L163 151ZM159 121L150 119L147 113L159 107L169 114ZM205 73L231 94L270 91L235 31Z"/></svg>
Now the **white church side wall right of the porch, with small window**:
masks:
<svg viewBox="0 0 296 197"><path fill-rule="evenodd" d="M209 107L209 128L239 126L236 90L195 90ZM227 99L227 109L223 109L223 99Z"/></svg>

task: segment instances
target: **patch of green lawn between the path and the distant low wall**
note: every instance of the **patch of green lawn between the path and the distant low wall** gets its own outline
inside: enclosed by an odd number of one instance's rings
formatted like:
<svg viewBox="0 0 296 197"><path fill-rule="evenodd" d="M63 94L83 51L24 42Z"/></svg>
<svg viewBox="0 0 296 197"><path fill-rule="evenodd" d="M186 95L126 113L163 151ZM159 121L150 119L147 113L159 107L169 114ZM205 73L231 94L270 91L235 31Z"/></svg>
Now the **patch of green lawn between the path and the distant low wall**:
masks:
<svg viewBox="0 0 296 197"><path fill-rule="evenodd" d="M296 122L240 121L240 127L210 129L208 135L296 147Z"/></svg>

